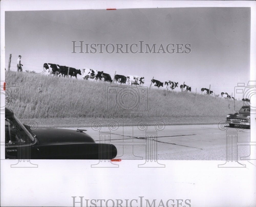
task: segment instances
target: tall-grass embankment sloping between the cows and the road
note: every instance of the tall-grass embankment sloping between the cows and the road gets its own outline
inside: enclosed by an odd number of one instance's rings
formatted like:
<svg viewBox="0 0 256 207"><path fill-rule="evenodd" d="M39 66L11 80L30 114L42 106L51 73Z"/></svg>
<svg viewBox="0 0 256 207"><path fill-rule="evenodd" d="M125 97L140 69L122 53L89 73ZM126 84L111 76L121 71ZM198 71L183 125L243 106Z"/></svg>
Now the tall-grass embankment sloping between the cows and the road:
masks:
<svg viewBox="0 0 256 207"><path fill-rule="evenodd" d="M20 87L20 111L16 116L21 120L36 120L39 126L82 127L90 126L94 120L114 119L113 112L107 110L109 83L13 71L6 71L5 80L8 85L15 83ZM115 101L112 98L110 105L115 105ZM148 110L142 112L141 120L162 120L166 125L217 124L226 120L226 114L234 112L231 100L180 89L176 92L148 89L148 101L141 101L141 107L145 108L146 103ZM241 101L237 103L242 106ZM12 107L16 104L17 100ZM129 115L124 118L129 120Z"/></svg>

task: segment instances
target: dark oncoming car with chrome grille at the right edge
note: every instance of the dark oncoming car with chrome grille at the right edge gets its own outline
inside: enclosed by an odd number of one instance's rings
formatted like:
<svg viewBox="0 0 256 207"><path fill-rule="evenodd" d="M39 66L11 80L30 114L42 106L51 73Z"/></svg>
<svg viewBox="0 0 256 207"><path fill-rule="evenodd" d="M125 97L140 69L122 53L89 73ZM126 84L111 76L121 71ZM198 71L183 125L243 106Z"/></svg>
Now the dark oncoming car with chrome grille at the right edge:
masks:
<svg viewBox="0 0 256 207"><path fill-rule="evenodd" d="M226 122L230 127L242 124L250 128L250 106L242 106L239 112L228 114Z"/></svg>

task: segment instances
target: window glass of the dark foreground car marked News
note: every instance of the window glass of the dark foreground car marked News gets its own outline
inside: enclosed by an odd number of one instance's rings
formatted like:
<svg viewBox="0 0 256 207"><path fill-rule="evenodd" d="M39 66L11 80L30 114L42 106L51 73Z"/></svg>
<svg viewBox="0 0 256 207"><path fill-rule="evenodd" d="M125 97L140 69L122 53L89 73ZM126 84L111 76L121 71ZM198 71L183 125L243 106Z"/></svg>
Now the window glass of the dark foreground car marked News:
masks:
<svg viewBox="0 0 256 207"><path fill-rule="evenodd" d="M15 116L10 116L5 118L5 141L31 144L35 138Z"/></svg>

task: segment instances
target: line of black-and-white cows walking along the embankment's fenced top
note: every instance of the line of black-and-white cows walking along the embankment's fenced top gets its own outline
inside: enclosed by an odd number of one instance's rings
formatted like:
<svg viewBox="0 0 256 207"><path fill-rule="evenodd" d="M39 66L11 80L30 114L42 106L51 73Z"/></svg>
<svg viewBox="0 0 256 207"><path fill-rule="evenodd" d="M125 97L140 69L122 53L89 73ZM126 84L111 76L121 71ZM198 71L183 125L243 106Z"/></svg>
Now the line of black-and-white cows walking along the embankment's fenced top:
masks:
<svg viewBox="0 0 256 207"><path fill-rule="evenodd" d="M72 76L76 77L77 79L77 74L82 75L81 74L81 70L77 70L75 68L71 68L71 67L67 67L67 66L60 66L58 64L52 64L52 63L44 63L44 68L42 73L46 72L46 75L58 75L59 76L64 76L66 77L68 74L70 75L70 78ZM101 81L108 81L108 82L113 82L113 80L111 79L110 74L108 73L104 73L103 71L97 71L97 70L92 70L89 68L83 68L82 70L83 76L82 78L85 80L88 80L88 78L94 80L101 80ZM134 76L134 75L129 75L129 76L124 76L124 75L115 75L114 77L114 81L120 83L121 84L125 84L125 85L139 85L141 86L142 84L144 84L145 80L144 77L140 77L140 76ZM151 86L156 86L158 88L165 87L167 90L172 89L175 90L176 87L178 87L178 82L173 82L173 81L165 81L165 82L160 82L158 80L152 79L151 80ZM191 92L191 87L187 86L187 85L180 85L180 89L181 90L185 90L185 91L190 91ZM213 91L207 88L201 88L201 93L202 94L213 94ZM221 97L222 98L226 98L226 99L234 99L234 97L231 97L230 95L228 95L228 93L221 93ZM246 100L244 99L243 101L250 101L249 99Z"/></svg>

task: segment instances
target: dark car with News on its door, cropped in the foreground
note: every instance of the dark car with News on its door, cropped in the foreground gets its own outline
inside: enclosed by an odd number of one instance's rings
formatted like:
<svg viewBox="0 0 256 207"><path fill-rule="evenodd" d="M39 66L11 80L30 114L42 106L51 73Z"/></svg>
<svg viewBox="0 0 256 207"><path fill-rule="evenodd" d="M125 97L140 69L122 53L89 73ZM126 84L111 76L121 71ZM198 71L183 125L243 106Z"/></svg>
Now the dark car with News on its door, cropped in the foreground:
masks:
<svg viewBox="0 0 256 207"><path fill-rule="evenodd" d="M101 159L111 160L117 150L99 144L86 130L37 128L22 124L13 111L5 109L5 159Z"/></svg>

